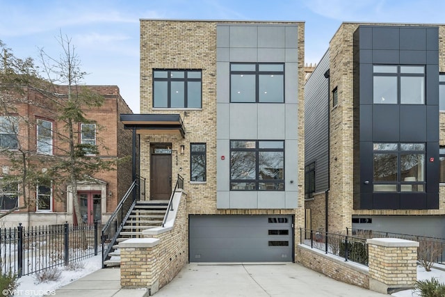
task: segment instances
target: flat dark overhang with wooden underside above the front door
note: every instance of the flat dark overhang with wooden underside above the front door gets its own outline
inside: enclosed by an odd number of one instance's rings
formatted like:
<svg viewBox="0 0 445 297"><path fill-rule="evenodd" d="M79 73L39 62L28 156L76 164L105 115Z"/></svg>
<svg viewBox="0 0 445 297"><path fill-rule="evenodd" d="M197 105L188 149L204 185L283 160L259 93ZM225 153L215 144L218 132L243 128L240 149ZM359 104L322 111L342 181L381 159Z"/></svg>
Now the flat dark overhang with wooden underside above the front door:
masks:
<svg viewBox="0 0 445 297"><path fill-rule="evenodd" d="M186 136L186 129L179 114L121 114L124 129L136 130L136 134L179 134Z"/></svg>

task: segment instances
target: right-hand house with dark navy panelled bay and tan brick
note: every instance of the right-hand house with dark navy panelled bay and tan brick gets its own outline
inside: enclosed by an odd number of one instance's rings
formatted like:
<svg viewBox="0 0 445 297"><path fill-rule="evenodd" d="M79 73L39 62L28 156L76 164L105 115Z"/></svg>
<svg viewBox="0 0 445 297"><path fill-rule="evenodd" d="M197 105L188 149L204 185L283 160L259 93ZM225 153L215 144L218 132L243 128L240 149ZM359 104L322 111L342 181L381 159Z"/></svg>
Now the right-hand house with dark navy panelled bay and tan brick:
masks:
<svg viewBox="0 0 445 297"><path fill-rule="evenodd" d="M444 35L341 24L305 85L307 227L445 237Z"/></svg>

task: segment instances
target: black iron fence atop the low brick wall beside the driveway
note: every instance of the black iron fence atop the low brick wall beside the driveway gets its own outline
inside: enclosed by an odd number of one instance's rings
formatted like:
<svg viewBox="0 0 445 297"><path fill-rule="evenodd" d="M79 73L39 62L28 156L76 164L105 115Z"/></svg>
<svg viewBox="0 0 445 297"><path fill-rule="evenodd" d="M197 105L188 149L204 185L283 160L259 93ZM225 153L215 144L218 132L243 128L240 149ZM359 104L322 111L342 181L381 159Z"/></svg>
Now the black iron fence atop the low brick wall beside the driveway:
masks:
<svg viewBox="0 0 445 297"><path fill-rule="evenodd" d="M343 257L345 261L368 265L366 239L300 228L300 242L326 254Z"/></svg>

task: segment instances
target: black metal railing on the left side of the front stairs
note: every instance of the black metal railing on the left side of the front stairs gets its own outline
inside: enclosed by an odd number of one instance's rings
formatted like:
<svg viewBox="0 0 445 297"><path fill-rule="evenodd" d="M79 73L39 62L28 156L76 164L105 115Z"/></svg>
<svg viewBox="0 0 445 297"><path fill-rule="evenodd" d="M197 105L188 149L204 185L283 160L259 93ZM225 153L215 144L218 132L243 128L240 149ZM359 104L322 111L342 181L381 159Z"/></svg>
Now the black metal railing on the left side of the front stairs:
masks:
<svg viewBox="0 0 445 297"><path fill-rule="evenodd" d="M136 177L127 190L127 193L125 193L115 211L111 214L110 218L102 228L102 268L104 268L104 262L108 258L108 254L111 252L113 245L118 239L131 211L133 211L136 201L140 200L141 193L142 195L145 195L145 193L141 191L141 188L145 191L145 178Z"/></svg>

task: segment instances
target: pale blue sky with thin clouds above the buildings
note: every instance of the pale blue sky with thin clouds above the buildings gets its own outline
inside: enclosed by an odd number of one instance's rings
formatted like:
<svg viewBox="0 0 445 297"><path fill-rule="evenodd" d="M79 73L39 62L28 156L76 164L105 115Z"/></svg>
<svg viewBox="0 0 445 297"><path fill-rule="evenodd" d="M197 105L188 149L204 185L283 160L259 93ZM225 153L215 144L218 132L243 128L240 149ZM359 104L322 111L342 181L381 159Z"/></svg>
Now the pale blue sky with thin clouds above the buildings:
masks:
<svg viewBox="0 0 445 297"><path fill-rule="evenodd" d="M445 24L443 0L0 0L0 40L38 64L71 39L83 83L113 85L139 113L139 20L305 22L305 63L318 63L342 22Z"/></svg>

